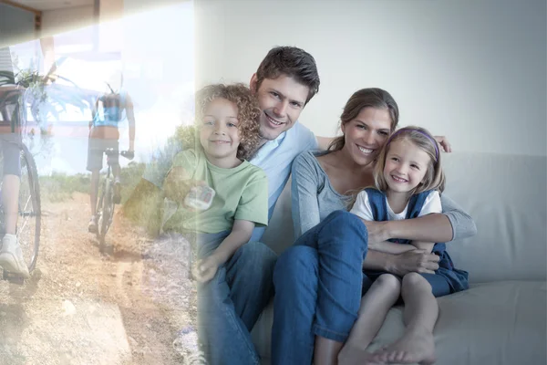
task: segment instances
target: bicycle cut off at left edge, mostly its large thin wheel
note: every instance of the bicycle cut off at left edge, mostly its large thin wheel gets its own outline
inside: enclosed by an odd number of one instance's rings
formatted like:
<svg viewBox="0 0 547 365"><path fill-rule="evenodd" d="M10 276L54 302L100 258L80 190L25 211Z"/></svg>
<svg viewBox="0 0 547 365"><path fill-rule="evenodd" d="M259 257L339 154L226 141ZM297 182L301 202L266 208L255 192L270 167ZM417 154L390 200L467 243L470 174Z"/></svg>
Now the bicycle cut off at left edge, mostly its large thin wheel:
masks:
<svg viewBox="0 0 547 365"><path fill-rule="evenodd" d="M14 143L11 141L0 141L0 143ZM23 256L25 257L28 271L36 268L38 250L40 246L41 229L41 201L40 185L38 183L38 172L33 155L22 142L17 142L19 147L19 159L21 162L21 179L18 199L18 217L15 227L15 235ZM4 176L4 155L0 151L0 176ZM2 180L0 180L0 237L5 235L4 203L2 202ZM15 276L3 270L3 279L15 284L23 284L23 278Z"/></svg>

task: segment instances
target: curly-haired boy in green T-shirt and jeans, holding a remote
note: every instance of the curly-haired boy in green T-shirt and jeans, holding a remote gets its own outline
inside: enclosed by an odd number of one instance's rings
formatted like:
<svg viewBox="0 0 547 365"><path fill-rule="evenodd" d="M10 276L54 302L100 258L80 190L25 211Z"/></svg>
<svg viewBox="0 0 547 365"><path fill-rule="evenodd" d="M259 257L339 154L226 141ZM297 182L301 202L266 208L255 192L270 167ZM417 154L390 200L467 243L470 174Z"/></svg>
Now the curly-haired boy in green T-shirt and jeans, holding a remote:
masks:
<svg viewBox="0 0 547 365"><path fill-rule="evenodd" d="M186 235L190 241L195 237L200 260L192 274L199 284L199 338L208 362L221 364L226 360L214 349L231 346L231 339L248 330L246 318L236 311L239 303L231 296L228 277L242 280L233 274L233 267L243 250L261 255L258 244L248 241L255 225L268 224L266 175L245 161L260 140L261 110L251 91L239 84L205 87L196 96L196 104L199 143L195 149L178 153L167 175L164 191L178 203L178 209L163 230ZM204 196L202 204L200 199L198 204L189 202L189 193L196 198L192 187L203 186L211 188L214 195ZM226 306L228 310L219 305L232 301L235 303Z"/></svg>

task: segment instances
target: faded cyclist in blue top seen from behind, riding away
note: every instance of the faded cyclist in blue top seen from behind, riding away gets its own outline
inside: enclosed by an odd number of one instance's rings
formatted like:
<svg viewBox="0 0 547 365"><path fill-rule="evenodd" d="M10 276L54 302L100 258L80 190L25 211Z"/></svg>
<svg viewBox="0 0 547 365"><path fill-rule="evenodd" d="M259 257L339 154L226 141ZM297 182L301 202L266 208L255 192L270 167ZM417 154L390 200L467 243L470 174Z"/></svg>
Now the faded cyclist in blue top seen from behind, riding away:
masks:
<svg viewBox="0 0 547 365"><path fill-rule="evenodd" d="M93 109L93 119L89 122L88 171L91 172L90 203L91 219L88 224L90 233L98 231L97 195L98 172L102 168L103 153L111 148L115 151L109 157L114 175L114 203L121 200L119 183L119 122L125 117L129 122L129 150L126 157L132 159L135 144L135 115L133 102L122 88L123 75L116 72L107 82L107 92L99 97Z"/></svg>

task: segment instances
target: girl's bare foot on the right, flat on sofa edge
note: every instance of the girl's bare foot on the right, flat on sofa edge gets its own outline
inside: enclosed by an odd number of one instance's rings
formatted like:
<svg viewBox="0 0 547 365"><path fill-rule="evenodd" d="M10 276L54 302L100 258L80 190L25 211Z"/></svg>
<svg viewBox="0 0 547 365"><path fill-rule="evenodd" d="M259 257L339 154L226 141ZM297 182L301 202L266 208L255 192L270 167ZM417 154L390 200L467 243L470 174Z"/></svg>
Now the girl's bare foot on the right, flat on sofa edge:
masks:
<svg viewBox="0 0 547 365"><path fill-rule="evenodd" d="M435 363L435 341L428 331L410 331L389 345L387 349L374 352L374 360L385 363L411 364L418 362L421 365Z"/></svg>

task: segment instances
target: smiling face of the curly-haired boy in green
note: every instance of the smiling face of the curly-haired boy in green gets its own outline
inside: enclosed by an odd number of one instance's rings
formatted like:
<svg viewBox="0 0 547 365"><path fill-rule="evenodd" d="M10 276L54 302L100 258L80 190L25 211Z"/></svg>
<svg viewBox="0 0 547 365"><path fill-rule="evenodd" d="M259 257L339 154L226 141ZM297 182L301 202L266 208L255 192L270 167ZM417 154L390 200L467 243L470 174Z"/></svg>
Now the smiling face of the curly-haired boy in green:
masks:
<svg viewBox="0 0 547 365"><path fill-rule="evenodd" d="M201 120L200 142L210 162L236 162L240 144L238 110L228 99L217 98L207 106Z"/></svg>

